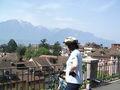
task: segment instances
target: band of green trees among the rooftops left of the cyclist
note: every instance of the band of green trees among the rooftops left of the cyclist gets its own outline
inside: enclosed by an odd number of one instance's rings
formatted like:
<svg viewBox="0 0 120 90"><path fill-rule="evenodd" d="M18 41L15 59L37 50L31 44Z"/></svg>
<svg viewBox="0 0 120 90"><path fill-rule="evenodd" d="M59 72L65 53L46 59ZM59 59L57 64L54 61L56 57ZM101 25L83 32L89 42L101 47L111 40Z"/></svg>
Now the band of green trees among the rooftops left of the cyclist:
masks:
<svg viewBox="0 0 120 90"><path fill-rule="evenodd" d="M13 48L14 46L14 48ZM35 49L29 44L28 47L23 45L17 46L14 40L10 40L8 43L8 47L12 47L12 50L9 49L9 52L15 51L19 54L24 56L26 59L30 59L32 57L38 57L40 55L61 55L61 46L60 43L57 41L54 45L50 48L50 45L47 43L46 39L42 39L41 43L39 44L39 48Z"/></svg>

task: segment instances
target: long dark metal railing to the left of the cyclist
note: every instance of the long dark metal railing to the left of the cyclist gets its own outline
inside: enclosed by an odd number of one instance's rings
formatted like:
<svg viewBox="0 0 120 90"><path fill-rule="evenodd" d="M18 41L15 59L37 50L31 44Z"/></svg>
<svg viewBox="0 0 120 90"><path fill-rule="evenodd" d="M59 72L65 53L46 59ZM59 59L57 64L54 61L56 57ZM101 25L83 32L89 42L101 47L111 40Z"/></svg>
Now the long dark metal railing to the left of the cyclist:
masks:
<svg viewBox="0 0 120 90"><path fill-rule="evenodd" d="M63 69L63 65L0 68L0 90L52 90Z"/></svg>

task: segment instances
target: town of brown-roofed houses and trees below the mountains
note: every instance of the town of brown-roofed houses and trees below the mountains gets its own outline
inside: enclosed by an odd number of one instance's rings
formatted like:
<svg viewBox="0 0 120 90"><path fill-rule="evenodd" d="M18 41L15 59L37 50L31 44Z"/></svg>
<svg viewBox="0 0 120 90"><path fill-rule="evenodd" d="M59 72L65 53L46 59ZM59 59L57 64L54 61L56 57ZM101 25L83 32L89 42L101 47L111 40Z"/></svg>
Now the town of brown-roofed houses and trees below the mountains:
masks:
<svg viewBox="0 0 120 90"><path fill-rule="evenodd" d="M120 78L120 44L104 47L94 42L79 45L84 80L110 82ZM11 39L0 45L0 90L47 90L58 86L57 75L65 69L69 52L58 41L18 45ZM88 74L89 73L89 74ZM100 84L92 83L91 87ZM86 83L82 88L86 88Z"/></svg>

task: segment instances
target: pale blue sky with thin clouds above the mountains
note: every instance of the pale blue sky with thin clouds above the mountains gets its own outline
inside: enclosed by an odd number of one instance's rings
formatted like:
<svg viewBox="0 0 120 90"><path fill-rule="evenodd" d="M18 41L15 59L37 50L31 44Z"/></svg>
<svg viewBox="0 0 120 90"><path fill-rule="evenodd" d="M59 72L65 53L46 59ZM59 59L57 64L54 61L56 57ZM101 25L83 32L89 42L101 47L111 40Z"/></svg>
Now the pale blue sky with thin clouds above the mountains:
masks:
<svg viewBox="0 0 120 90"><path fill-rule="evenodd" d="M72 28L120 43L120 0L0 0L0 22Z"/></svg>

